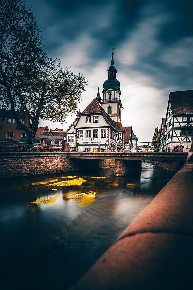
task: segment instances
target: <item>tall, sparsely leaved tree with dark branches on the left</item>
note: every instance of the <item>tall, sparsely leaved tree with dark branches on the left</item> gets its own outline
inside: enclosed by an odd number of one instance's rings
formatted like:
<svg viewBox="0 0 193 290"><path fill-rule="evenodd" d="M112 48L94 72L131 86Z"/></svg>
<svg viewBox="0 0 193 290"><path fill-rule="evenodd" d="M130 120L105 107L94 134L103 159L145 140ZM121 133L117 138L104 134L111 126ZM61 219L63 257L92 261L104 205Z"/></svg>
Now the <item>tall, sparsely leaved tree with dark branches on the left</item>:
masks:
<svg viewBox="0 0 193 290"><path fill-rule="evenodd" d="M60 60L45 52L34 14L22 0L0 0L0 94L1 106L33 142L39 118L63 122L76 111L87 82ZM20 122L27 114L31 128Z"/></svg>

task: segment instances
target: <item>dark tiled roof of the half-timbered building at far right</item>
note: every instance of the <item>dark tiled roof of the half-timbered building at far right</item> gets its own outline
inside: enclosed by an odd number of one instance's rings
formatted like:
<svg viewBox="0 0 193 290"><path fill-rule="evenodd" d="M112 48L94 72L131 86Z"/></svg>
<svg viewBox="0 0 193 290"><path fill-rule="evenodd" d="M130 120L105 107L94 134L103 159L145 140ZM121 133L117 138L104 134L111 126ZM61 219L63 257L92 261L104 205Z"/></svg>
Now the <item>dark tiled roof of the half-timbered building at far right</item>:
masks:
<svg viewBox="0 0 193 290"><path fill-rule="evenodd" d="M172 114L193 113L193 90L170 92Z"/></svg>

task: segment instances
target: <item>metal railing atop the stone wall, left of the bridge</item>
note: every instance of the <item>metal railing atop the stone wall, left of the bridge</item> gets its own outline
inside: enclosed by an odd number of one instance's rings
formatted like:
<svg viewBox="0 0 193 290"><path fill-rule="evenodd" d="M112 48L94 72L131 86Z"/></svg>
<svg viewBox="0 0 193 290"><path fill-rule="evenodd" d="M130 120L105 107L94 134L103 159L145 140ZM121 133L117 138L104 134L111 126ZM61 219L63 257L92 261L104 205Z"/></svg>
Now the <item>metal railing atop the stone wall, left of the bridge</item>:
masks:
<svg viewBox="0 0 193 290"><path fill-rule="evenodd" d="M3 151L3 152L64 152L65 145L0 141L0 151Z"/></svg>

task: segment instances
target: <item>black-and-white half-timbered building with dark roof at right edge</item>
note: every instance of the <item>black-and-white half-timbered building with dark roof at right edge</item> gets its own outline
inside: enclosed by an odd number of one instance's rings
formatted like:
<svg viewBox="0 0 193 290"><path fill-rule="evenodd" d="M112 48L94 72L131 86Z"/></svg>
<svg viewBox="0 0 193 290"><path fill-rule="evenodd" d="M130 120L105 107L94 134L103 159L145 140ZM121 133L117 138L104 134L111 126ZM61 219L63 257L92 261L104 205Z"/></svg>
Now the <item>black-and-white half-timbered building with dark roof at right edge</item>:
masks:
<svg viewBox="0 0 193 290"><path fill-rule="evenodd" d="M161 151L189 151L193 135L193 90L170 92L162 119Z"/></svg>

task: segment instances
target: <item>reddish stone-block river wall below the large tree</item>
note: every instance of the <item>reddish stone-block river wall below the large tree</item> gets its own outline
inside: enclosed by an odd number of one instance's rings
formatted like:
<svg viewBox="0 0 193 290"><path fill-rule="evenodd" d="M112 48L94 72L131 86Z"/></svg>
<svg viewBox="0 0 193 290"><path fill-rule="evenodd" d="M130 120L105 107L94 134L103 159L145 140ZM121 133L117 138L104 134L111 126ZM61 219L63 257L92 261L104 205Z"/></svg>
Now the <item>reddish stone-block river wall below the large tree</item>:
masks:
<svg viewBox="0 0 193 290"><path fill-rule="evenodd" d="M0 153L0 177L16 177L58 173L80 169L80 163L70 160L68 153Z"/></svg>

